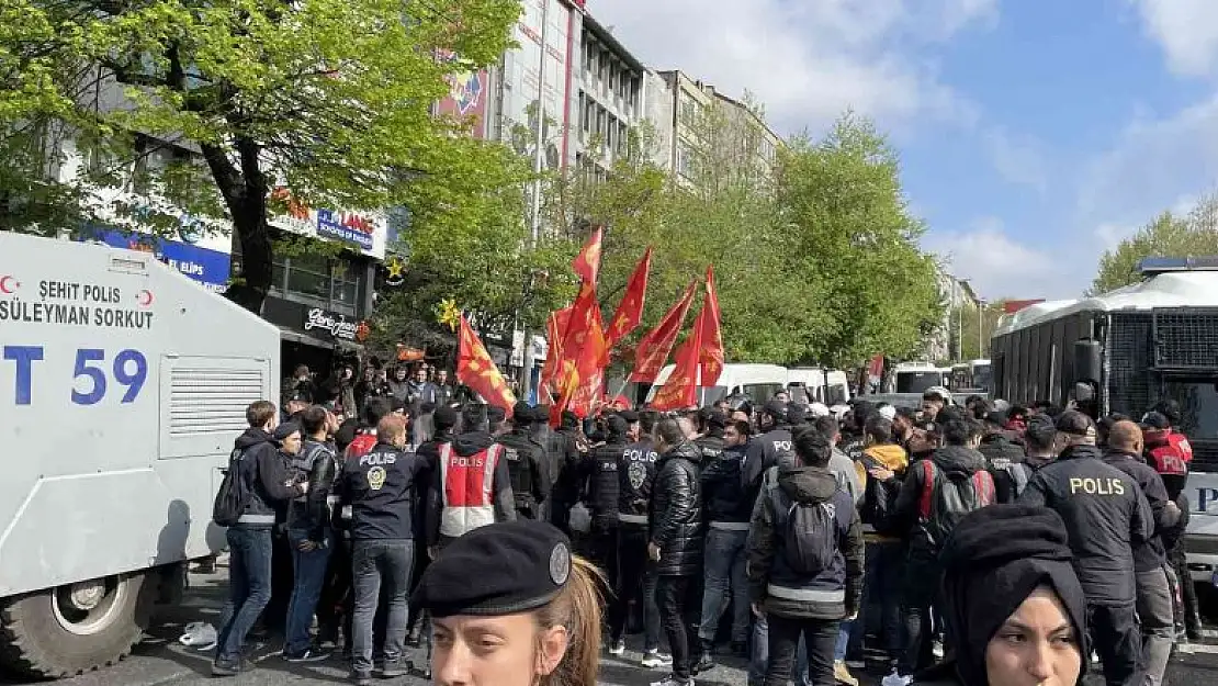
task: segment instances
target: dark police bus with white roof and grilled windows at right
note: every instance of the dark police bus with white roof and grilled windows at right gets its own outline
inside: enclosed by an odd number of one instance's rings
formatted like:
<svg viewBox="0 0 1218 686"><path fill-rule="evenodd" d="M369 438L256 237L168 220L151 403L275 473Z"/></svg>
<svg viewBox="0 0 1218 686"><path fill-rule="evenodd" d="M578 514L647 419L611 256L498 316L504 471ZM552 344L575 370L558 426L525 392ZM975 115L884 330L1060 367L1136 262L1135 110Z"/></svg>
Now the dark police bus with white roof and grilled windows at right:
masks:
<svg viewBox="0 0 1218 686"><path fill-rule="evenodd" d="M1194 448L1186 550L1194 579L1218 565L1218 257L1150 258L1140 283L1005 316L990 344L994 397L1074 400L1139 419L1180 403Z"/></svg>

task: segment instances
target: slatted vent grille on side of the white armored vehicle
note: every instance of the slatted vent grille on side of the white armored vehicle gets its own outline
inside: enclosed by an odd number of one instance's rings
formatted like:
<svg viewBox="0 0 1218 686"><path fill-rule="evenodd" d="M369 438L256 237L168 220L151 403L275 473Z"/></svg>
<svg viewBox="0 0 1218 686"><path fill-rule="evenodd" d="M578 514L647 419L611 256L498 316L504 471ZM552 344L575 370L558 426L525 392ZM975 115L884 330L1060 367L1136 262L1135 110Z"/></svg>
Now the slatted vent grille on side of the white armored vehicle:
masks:
<svg viewBox="0 0 1218 686"><path fill-rule="evenodd" d="M240 434L245 408L264 400L262 374L256 369L177 367L169 394L169 435Z"/></svg>

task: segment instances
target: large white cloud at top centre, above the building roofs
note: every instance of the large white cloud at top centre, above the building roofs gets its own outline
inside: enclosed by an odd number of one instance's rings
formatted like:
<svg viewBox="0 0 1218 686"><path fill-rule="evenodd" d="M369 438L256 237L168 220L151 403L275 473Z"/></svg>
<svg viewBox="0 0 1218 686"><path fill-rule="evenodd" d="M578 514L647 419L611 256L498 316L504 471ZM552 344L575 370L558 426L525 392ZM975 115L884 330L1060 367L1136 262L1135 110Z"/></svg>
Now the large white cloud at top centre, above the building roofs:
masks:
<svg viewBox="0 0 1218 686"><path fill-rule="evenodd" d="M754 93L784 133L848 107L889 129L971 124L973 106L938 79L931 48L998 19L998 0L594 0L588 10L644 63Z"/></svg>

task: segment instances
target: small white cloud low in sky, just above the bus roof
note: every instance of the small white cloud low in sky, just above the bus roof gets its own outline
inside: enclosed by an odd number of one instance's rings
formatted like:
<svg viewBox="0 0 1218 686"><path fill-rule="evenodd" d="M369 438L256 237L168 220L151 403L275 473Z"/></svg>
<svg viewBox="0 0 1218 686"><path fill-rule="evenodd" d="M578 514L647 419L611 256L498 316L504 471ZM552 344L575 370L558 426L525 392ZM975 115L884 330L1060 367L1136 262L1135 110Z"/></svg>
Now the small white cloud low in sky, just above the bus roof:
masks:
<svg viewBox="0 0 1218 686"><path fill-rule="evenodd" d="M961 232L932 232L922 247L939 255L987 300L1075 297L1080 290L1054 253L1011 239L998 217L978 218Z"/></svg>

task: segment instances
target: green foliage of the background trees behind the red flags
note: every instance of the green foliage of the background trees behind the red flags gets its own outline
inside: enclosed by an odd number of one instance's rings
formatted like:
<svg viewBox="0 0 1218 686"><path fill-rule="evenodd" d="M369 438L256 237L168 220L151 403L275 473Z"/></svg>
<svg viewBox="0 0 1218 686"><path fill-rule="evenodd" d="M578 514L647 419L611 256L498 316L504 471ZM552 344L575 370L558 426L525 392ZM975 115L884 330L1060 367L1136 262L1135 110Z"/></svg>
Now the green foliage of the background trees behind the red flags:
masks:
<svg viewBox="0 0 1218 686"><path fill-rule="evenodd" d="M942 305L895 155L854 116L823 140L783 150L759 113L747 100L743 110L720 104L686 122L682 180L653 162L666 152L642 128L608 174L576 171L552 184L552 225L572 227L579 240L582 227L607 227L607 318L654 246L644 323L624 347L714 264L728 361L844 366L912 353Z"/></svg>

